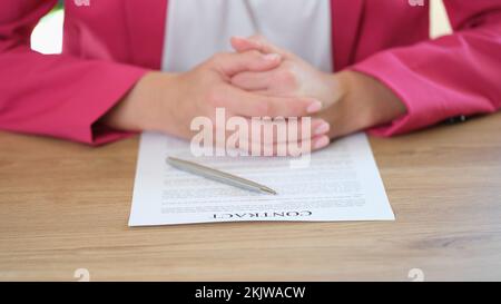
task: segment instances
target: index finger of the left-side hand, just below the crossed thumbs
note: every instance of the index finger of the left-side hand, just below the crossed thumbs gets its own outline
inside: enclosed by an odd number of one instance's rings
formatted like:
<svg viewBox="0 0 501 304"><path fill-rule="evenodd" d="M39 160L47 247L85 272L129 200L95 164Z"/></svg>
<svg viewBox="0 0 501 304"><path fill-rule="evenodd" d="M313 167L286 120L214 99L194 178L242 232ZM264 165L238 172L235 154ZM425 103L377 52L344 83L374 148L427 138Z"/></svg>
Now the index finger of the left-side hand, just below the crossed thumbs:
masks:
<svg viewBox="0 0 501 304"><path fill-rule="evenodd" d="M303 117L322 109L322 102L316 99L263 96L230 85L218 88L209 101L214 107L227 108L246 117Z"/></svg>

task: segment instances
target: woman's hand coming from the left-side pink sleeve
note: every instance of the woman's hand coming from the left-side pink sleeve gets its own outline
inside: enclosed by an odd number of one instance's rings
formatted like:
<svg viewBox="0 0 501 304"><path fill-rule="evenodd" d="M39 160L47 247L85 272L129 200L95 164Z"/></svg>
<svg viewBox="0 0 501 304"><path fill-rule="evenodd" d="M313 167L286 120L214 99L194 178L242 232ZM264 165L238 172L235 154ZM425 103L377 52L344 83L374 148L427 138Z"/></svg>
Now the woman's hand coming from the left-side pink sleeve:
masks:
<svg viewBox="0 0 501 304"><path fill-rule="evenodd" d="M322 105L312 98L262 96L230 85L236 73L266 71L278 65L278 55L247 51L215 55L184 73L151 71L104 118L104 122L117 129L154 130L190 138L194 135L189 128L191 120L203 116L214 121L216 108L225 108L226 119L233 116L304 117L317 112ZM323 122L312 120L312 145L315 138L322 137L315 129ZM215 121L213 125L217 126Z"/></svg>

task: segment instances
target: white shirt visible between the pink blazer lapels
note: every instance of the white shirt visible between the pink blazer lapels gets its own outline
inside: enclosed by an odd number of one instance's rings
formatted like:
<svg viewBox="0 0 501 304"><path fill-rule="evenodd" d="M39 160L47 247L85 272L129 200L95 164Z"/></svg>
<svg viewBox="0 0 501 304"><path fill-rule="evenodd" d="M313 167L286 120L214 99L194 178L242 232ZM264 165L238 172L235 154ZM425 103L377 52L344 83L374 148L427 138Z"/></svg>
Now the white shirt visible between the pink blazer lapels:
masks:
<svg viewBox="0 0 501 304"><path fill-rule="evenodd" d="M232 51L232 36L259 32L323 71L332 71L330 0L170 0L163 70L187 71Z"/></svg>

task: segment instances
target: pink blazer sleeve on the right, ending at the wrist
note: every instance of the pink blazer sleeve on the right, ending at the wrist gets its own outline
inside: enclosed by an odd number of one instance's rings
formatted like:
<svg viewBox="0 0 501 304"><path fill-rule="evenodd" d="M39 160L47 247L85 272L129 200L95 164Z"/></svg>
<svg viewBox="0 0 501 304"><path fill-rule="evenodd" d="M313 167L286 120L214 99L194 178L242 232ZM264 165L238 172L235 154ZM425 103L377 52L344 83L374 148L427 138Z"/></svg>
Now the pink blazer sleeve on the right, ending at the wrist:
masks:
<svg viewBox="0 0 501 304"><path fill-rule="evenodd" d="M351 69L392 89L407 114L371 133L392 136L501 107L501 1L445 0L454 35L391 49Z"/></svg>

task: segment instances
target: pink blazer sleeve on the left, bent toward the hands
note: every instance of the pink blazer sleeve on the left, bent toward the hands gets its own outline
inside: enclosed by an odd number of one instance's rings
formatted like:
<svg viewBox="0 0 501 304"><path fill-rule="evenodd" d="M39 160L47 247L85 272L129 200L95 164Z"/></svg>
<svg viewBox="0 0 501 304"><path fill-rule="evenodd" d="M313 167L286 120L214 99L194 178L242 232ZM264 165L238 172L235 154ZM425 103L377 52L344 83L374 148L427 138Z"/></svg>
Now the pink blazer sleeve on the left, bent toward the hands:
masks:
<svg viewBox="0 0 501 304"><path fill-rule="evenodd" d="M0 129L90 145L127 136L97 124L145 69L40 55L30 35L56 1L3 0L0 11Z"/></svg>

